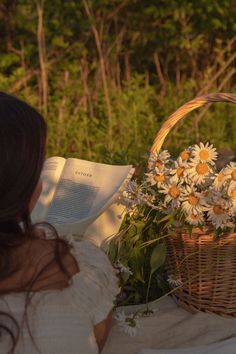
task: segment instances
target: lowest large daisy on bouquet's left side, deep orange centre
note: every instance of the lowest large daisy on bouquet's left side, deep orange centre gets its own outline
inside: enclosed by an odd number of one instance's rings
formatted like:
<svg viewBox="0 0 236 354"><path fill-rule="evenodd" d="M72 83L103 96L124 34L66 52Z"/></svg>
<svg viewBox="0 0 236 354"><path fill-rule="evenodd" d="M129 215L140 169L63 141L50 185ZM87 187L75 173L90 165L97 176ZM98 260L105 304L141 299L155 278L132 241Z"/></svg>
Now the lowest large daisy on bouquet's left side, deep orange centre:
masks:
<svg viewBox="0 0 236 354"><path fill-rule="evenodd" d="M159 189L159 193L165 194L164 207L170 203L173 209L178 208L181 204L180 199L183 190L181 183L176 183L173 177L169 179L168 183L162 185L161 189Z"/></svg>

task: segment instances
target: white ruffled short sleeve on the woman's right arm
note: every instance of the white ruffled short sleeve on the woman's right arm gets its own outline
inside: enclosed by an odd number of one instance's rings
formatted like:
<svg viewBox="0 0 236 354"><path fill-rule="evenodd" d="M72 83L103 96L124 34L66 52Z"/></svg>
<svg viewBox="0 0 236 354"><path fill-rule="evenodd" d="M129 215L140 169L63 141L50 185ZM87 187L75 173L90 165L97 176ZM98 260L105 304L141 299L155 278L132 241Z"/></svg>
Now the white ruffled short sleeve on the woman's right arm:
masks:
<svg viewBox="0 0 236 354"><path fill-rule="evenodd" d="M72 278L70 287L75 306L89 314L94 325L107 318L119 292L118 278L107 255L92 243L64 237L72 246L71 253L80 272Z"/></svg>

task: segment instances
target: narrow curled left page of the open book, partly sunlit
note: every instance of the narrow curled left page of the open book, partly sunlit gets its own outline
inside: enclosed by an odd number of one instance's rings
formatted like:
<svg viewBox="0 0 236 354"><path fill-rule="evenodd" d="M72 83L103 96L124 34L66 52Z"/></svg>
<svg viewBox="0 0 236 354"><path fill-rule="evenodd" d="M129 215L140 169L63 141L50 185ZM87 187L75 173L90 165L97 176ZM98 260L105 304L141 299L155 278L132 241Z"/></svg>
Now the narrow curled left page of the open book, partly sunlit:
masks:
<svg viewBox="0 0 236 354"><path fill-rule="evenodd" d="M35 205L31 218L33 222L45 221L49 205L53 199L57 183L62 174L66 160L62 157L50 157L44 162L41 178L43 189Z"/></svg>

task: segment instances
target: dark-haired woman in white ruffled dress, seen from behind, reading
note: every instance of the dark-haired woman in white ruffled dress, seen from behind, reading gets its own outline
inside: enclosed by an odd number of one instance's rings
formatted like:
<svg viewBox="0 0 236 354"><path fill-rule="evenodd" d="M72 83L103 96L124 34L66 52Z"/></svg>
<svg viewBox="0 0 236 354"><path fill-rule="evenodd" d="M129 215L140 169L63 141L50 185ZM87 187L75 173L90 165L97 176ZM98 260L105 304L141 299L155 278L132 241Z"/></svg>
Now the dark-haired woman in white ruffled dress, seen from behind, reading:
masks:
<svg viewBox="0 0 236 354"><path fill-rule="evenodd" d="M100 249L31 224L45 141L42 116L0 93L0 353L97 354L117 279Z"/></svg>

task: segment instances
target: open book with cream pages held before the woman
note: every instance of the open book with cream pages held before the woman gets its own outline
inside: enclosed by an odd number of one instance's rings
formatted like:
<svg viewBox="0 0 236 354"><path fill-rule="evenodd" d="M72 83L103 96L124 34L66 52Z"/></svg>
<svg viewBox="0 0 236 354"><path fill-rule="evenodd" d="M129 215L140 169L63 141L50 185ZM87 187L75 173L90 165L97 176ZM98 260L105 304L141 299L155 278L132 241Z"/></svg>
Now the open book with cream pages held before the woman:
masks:
<svg viewBox="0 0 236 354"><path fill-rule="evenodd" d="M43 190L32 212L32 220L51 223L59 234L83 235L100 214L116 203L133 171L131 165L50 157L44 163ZM101 228L102 224L99 225Z"/></svg>

